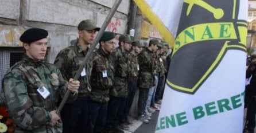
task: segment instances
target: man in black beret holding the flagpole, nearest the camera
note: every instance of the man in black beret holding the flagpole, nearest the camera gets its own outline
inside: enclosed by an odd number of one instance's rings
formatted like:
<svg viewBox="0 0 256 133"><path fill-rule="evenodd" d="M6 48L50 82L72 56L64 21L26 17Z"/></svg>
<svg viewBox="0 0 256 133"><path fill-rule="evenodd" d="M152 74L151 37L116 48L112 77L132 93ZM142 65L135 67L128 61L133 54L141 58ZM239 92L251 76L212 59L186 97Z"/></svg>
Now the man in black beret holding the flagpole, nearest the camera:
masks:
<svg viewBox="0 0 256 133"><path fill-rule="evenodd" d="M24 58L11 67L3 77L3 91L15 132L62 132L57 103L67 89L68 102L77 97L79 81L63 79L55 65L46 63L48 32L44 29L26 30L20 37Z"/></svg>

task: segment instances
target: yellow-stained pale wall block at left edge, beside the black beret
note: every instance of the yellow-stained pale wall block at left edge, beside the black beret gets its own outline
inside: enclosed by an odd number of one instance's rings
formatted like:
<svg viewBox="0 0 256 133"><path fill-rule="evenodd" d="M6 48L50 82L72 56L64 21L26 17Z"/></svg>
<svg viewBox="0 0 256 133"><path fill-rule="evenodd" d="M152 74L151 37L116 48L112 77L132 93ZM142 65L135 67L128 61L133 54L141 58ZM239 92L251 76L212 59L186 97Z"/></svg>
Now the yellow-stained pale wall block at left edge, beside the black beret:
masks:
<svg viewBox="0 0 256 133"><path fill-rule="evenodd" d="M23 32L18 27L0 26L0 46L21 47L20 36Z"/></svg>

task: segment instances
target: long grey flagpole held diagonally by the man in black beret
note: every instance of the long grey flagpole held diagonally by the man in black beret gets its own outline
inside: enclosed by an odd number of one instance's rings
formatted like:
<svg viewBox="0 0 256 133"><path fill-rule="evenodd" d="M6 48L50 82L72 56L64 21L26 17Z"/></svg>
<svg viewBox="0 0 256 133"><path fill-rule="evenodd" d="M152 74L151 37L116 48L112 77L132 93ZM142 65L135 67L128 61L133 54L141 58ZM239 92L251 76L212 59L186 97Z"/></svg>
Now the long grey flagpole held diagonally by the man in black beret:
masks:
<svg viewBox="0 0 256 133"><path fill-rule="evenodd" d="M88 52L87 52L87 54L86 54L86 57L84 57L84 60L83 60L82 64L80 65L79 69L77 70L75 77L73 77L73 80L74 80L74 81L76 81L76 80L79 79L80 73L83 71L83 68L84 68L84 66L86 65L86 62L88 61L88 59L89 59L89 57L91 56L92 52L94 51L96 45L98 44L100 38L102 37L102 34L103 34L103 32L105 31L105 29L107 28L107 25L108 25L108 23L110 22L111 18L113 17L115 11L117 11L117 8L118 8L118 6L120 5L121 1L122 1L122 0L117 0L117 1L115 1L113 7L112 7L111 10L110 10L110 13L108 14L108 16L107 16L107 18L105 19L105 21L104 21L102 27L101 27L100 30L99 30L99 33L98 33L98 35L97 35L96 38L95 38L95 41L94 41L94 42L92 43L92 45L90 46L90 49L88 50ZM65 93L63 99L61 100L61 103L60 103L60 105L59 105L59 108L57 108L57 111L56 111L57 114L60 113L61 109L63 108L64 104L66 103L66 101L67 101L67 99L68 99L68 97L69 97L69 94L70 94L70 91L69 91L69 89L67 89L67 92Z"/></svg>

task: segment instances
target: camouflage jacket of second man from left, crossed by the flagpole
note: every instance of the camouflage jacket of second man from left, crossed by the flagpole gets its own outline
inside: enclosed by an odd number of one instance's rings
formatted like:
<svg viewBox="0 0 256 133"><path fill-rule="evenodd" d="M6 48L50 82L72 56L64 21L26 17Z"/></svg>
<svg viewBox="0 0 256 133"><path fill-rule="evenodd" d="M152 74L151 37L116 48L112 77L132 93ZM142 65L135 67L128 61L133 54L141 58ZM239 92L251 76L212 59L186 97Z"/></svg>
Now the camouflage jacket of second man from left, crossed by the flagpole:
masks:
<svg viewBox="0 0 256 133"><path fill-rule="evenodd" d="M57 54L54 64L60 69L65 80L75 77L78 68L84 60L84 57L86 57L87 52L88 49L83 50L76 41L75 44L68 46ZM91 68L92 56L84 67L85 72L83 71L78 79L80 81L78 93L88 93L91 91Z"/></svg>

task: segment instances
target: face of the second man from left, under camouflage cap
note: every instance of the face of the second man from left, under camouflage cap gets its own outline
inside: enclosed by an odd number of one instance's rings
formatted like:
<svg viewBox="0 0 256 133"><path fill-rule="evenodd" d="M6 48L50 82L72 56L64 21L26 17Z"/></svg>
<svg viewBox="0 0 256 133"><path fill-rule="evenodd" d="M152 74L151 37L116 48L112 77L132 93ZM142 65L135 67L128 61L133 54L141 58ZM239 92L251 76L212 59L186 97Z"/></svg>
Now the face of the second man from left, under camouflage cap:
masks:
<svg viewBox="0 0 256 133"><path fill-rule="evenodd" d="M79 30L79 37L82 38L83 44L90 45L96 37L96 30Z"/></svg>

